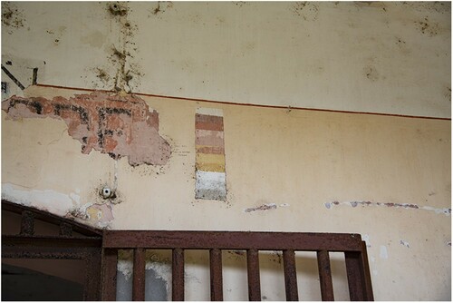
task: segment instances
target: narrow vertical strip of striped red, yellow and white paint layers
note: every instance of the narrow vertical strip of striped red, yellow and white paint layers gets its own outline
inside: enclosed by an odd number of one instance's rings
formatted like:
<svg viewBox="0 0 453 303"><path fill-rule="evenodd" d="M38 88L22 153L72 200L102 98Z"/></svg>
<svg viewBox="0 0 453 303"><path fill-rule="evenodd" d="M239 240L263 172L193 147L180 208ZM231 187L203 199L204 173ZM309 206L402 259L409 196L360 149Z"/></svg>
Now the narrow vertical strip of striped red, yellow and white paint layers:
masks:
<svg viewBox="0 0 453 303"><path fill-rule="evenodd" d="M195 115L196 199L226 200L223 112L198 108Z"/></svg>

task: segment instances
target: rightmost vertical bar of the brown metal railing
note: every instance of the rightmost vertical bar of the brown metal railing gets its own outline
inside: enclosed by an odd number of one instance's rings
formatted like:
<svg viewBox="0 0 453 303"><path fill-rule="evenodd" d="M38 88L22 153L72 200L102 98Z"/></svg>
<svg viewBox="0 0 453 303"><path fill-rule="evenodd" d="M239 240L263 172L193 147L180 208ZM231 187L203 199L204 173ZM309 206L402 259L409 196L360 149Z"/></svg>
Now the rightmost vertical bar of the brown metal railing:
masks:
<svg viewBox="0 0 453 303"><path fill-rule="evenodd" d="M349 296L352 301L363 301L365 283L362 278L361 252L346 251L344 252L346 261L346 274L348 276Z"/></svg>

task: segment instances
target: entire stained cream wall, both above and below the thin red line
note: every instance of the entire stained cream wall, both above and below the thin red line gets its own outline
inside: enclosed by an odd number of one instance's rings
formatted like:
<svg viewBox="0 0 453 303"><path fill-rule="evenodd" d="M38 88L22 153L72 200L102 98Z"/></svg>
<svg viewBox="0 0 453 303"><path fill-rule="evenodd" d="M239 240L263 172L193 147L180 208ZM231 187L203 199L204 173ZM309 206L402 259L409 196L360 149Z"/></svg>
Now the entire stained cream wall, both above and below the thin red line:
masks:
<svg viewBox="0 0 453 303"><path fill-rule="evenodd" d="M115 230L358 232L377 300L451 299L451 122L294 109L449 117L449 3L3 2L2 43L25 87L37 68L37 83L111 91L23 91L3 71L2 100L20 96L2 106L3 198ZM100 123L109 96L123 110L137 101L140 119L111 111ZM91 123L45 112L55 104L86 108ZM223 115L225 199L196 199L199 108ZM187 298L207 300L207 254L186 257ZM171 293L168 258L147 254L159 298ZM246 300L244 252L223 258L224 297ZM343 257L331 260L347 300ZM262 299L284 300L281 254L260 264ZM314 255L296 264L300 297L319 300Z"/></svg>

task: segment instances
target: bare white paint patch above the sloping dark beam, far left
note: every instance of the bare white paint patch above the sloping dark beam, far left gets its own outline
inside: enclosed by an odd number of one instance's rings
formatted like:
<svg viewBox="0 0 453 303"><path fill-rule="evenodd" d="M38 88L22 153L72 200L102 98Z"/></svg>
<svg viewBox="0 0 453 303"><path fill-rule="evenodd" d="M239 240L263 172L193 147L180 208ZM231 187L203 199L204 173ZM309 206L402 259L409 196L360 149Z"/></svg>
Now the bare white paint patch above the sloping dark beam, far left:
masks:
<svg viewBox="0 0 453 303"><path fill-rule="evenodd" d="M60 216L64 216L80 202L80 196L75 193L67 195L52 190L24 190L11 183L2 184L2 199L45 209Z"/></svg>

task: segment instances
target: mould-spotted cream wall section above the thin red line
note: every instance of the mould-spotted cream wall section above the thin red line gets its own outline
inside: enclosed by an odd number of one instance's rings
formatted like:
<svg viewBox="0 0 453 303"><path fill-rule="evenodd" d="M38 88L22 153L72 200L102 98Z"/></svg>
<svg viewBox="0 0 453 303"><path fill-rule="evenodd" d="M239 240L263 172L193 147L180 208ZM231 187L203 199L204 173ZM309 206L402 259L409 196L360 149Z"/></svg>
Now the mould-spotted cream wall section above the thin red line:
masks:
<svg viewBox="0 0 453 303"><path fill-rule="evenodd" d="M2 64L25 86L129 71L135 93L450 117L448 2L114 4L3 2Z"/></svg>

